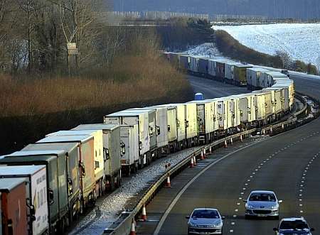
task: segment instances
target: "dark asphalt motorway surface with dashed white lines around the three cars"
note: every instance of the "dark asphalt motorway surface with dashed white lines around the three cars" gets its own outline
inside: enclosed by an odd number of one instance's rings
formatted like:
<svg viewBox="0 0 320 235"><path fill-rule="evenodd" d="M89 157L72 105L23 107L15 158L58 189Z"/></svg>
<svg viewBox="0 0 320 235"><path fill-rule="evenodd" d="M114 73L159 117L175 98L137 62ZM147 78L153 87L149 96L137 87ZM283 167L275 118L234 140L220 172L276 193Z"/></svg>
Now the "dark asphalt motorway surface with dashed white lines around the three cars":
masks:
<svg viewBox="0 0 320 235"><path fill-rule="evenodd" d="M296 89L320 99L320 80L309 80L291 76ZM219 96L219 87L204 87L203 80L191 78L196 92ZM210 90L216 90L210 92ZM206 97L208 98L208 97ZM272 228L278 221L272 219L250 219L244 217L243 199L251 190L272 190L276 192L280 204L280 218L305 217L310 226L315 227L313 234L320 234L320 119L292 131L256 143L236 153L228 155L199 175L176 203L158 223L156 234L187 234L185 216L196 207L214 207L226 217L223 234L274 234ZM183 173L182 173L183 174ZM184 176L188 177L188 175ZM191 177L194 178L194 175ZM173 180L174 181L174 180ZM154 198L153 204L163 203L163 198ZM175 202L172 200L171 202ZM167 202L166 202L167 203ZM143 224L142 224L143 226ZM138 233L139 234L139 233ZM154 228L142 234L154 234Z"/></svg>

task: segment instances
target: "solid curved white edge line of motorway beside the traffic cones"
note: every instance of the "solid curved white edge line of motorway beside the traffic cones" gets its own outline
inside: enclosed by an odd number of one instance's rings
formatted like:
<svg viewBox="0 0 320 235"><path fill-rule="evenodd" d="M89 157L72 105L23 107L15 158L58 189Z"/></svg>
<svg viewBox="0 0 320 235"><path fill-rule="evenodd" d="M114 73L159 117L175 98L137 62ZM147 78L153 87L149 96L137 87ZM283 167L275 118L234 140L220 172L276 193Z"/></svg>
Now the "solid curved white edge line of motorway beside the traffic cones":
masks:
<svg viewBox="0 0 320 235"><path fill-rule="evenodd" d="M269 138L270 139L270 138ZM206 168L203 168L195 177L193 177L192 180L190 180L184 187L183 189L178 193L178 195L176 195L176 197L174 198L174 200L171 202L171 204L169 205L169 207L166 209L166 211L164 212L163 216L161 217L159 224L156 226L156 229L154 230L154 235L158 235L160 232L161 227L164 225L164 222L166 221L166 218L168 217L169 213L171 212L171 210L174 208L174 206L176 205L176 202L178 202L178 200L180 199L180 197L183 195L183 192L186 192L186 190L188 189L188 187L196 181L196 179L198 179L198 177L200 177L201 175L203 175L203 173L206 172L206 170L210 169L213 165L216 165L217 163L220 163L221 160L224 160L225 158L228 158L230 155L233 155L235 153L238 153L242 150L244 150L245 148L249 148L251 146L254 146L257 143L261 143L260 142L256 142L256 143L252 143L248 146L239 148L236 151L233 151L233 153L228 153L227 155L223 156L222 158L219 158L217 160L215 160L213 163L210 163L209 165L206 166ZM249 180L250 181L250 180Z"/></svg>

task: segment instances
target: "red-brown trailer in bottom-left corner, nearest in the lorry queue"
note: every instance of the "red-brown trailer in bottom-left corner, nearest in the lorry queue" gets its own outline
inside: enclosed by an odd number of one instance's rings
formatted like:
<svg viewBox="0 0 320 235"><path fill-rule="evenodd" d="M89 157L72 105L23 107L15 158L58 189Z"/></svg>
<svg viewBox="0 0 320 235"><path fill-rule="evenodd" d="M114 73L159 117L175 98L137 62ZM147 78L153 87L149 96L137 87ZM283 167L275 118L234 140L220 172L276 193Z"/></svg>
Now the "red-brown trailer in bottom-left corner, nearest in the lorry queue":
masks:
<svg viewBox="0 0 320 235"><path fill-rule="evenodd" d="M0 179L1 235L28 235L23 179Z"/></svg>

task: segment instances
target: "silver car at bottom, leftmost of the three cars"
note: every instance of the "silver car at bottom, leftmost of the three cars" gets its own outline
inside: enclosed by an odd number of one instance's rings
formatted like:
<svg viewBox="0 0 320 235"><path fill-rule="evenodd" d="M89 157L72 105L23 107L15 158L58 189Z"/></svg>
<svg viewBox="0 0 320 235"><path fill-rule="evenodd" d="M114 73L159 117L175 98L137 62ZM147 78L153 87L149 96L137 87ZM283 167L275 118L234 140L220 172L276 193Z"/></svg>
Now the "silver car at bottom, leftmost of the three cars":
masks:
<svg viewBox="0 0 320 235"><path fill-rule="evenodd" d="M188 234L223 234L223 219L218 209L194 209L188 219Z"/></svg>

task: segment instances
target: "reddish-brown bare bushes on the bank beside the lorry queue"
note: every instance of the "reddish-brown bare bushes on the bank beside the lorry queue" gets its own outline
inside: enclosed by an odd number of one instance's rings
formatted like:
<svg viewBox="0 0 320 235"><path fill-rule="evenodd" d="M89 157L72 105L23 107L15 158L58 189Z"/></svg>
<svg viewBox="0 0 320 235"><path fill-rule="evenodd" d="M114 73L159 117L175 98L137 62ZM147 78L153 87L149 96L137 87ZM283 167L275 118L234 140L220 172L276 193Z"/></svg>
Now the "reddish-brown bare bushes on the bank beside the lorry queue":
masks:
<svg viewBox="0 0 320 235"><path fill-rule="evenodd" d="M78 75L2 73L0 154L21 149L46 133L102 123L103 116L114 111L190 100L190 84L158 50L150 38L138 38L110 65Z"/></svg>

